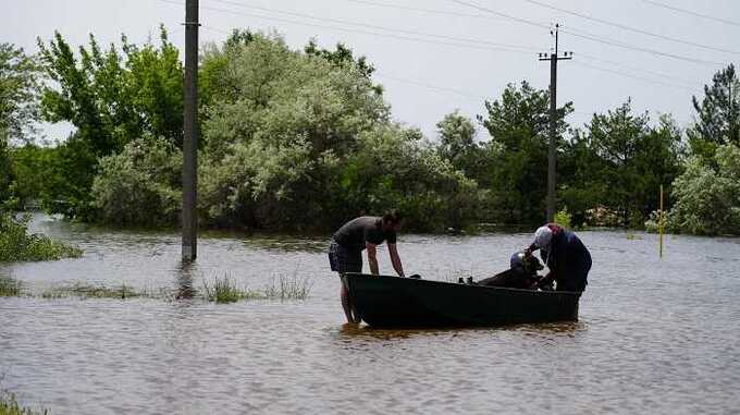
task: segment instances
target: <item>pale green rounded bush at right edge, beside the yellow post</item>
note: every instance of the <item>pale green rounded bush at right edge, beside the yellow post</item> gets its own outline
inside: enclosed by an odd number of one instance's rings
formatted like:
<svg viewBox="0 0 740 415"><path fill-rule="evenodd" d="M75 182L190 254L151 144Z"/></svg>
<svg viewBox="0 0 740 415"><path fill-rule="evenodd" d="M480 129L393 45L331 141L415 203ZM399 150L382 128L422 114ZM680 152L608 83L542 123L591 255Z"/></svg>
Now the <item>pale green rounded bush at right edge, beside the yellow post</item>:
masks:
<svg viewBox="0 0 740 415"><path fill-rule="evenodd" d="M675 204L667 215L671 232L740 234L740 147L719 146L712 166L691 158L674 182Z"/></svg>

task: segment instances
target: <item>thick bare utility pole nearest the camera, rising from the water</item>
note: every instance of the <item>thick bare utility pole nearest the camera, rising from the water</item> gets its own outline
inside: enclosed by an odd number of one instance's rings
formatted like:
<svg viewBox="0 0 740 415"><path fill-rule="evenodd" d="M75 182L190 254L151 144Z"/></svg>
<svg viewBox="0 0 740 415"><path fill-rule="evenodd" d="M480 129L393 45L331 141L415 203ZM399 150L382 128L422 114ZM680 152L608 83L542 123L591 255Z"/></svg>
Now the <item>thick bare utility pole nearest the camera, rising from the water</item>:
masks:
<svg viewBox="0 0 740 415"><path fill-rule="evenodd" d="M183 261L190 263L198 253L198 0L186 0L184 24Z"/></svg>

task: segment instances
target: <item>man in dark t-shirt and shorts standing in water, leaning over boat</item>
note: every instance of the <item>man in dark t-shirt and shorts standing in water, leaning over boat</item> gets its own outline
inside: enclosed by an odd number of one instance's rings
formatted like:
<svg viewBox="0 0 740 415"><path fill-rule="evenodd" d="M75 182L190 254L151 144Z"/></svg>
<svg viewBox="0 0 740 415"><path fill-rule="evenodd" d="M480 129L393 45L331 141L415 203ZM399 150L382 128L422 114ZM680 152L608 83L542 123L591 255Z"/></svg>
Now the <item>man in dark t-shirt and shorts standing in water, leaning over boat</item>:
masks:
<svg viewBox="0 0 740 415"><path fill-rule="evenodd" d="M350 220L340 228L332 236L329 246L329 264L332 271L340 274L345 272L362 272L362 251L368 249L368 264L370 272L378 274L377 246L383 241L388 243L391 264L399 277L404 277L404 267L396 248L396 233L400 230L402 216L396 210L391 210L382 218L362 216ZM353 315L354 307L349 301L347 286L342 282L342 307L347 317L347 322L360 322L359 317Z"/></svg>

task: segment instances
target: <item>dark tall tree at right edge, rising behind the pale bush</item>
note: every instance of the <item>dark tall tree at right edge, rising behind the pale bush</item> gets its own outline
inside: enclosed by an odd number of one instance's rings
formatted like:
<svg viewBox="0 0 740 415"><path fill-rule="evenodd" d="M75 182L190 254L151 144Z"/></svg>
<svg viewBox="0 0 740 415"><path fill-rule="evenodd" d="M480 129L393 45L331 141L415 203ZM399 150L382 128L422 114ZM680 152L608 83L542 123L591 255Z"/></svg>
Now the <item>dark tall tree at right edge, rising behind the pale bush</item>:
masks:
<svg viewBox="0 0 740 415"><path fill-rule="evenodd" d="M692 97L699 120L689 131L694 154L712 159L717 146L740 145L740 80L735 65L729 64L712 77L712 86L704 85L700 102Z"/></svg>

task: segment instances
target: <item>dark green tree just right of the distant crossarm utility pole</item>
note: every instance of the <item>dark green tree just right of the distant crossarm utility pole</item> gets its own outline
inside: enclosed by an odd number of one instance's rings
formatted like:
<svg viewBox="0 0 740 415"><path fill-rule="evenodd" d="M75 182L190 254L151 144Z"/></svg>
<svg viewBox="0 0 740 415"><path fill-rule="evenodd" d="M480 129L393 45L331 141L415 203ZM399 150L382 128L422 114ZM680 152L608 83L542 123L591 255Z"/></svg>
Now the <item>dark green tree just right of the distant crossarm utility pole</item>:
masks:
<svg viewBox="0 0 740 415"><path fill-rule="evenodd" d="M602 208L616 215L615 224L642 227L657 209L661 184L668 187L680 173L679 129L666 115L650 126L648 113L632 114L628 100L594 114L585 130L574 132L559 164L560 199L574 208L577 223Z"/></svg>

